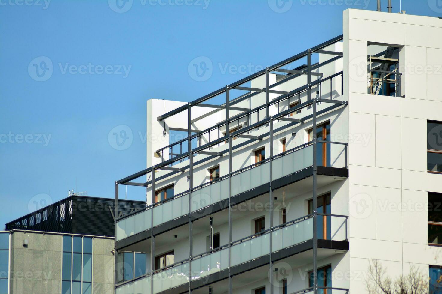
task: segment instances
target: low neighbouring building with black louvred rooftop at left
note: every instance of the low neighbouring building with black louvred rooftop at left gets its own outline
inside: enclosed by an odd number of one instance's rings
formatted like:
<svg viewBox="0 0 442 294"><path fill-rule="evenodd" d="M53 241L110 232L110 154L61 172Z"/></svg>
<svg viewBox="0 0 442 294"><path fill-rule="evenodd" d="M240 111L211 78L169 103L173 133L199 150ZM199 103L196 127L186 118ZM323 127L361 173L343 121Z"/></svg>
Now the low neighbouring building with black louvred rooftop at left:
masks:
<svg viewBox="0 0 442 294"><path fill-rule="evenodd" d="M119 215L145 206L123 200ZM112 293L113 209L113 199L70 196L7 223L0 232L0 294ZM121 281L145 273L145 253L129 254L132 262L119 266Z"/></svg>

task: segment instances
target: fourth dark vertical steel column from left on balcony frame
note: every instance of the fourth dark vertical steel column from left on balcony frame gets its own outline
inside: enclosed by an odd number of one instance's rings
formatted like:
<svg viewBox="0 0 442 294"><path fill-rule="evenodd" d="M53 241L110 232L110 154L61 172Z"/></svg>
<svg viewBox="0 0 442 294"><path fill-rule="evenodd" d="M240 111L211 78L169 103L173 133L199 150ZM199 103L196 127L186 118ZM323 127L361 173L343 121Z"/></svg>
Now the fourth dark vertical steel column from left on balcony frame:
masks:
<svg viewBox="0 0 442 294"><path fill-rule="evenodd" d="M230 260L231 260L231 246L232 246L232 208L230 197L231 195L231 177L232 177L232 136L230 136L230 88L226 86L225 89L225 133L229 136L229 294L233 293L232 275L230 275Z"/></svg>

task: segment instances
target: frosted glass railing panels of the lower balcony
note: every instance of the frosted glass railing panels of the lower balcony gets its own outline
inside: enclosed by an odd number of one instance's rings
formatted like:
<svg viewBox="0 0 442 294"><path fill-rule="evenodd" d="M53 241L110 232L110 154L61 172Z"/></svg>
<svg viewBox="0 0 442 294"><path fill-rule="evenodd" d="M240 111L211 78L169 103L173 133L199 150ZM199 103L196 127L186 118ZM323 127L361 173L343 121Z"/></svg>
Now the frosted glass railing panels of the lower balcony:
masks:
<svg viewBox="0 0 442 294"><path fill-rule="evenodd" d="M331 218L331 239L347 240L347 216L321 214ZM270 238L272 249L270 250ZM251 235L232 243L230 265L236 266L256 258L268 255L270 252L301 244L313 238L313 216L303 216L297 220L284 223L273 230ZM320 237L319 237L320 238ZM205 278L229 267L229 246L203 253L190 261L172 265L171 268L155 273L152 276L153 293L172 289L192 281ZM117 288L117 294L151 294L151 276L126 283Z"/></svg>

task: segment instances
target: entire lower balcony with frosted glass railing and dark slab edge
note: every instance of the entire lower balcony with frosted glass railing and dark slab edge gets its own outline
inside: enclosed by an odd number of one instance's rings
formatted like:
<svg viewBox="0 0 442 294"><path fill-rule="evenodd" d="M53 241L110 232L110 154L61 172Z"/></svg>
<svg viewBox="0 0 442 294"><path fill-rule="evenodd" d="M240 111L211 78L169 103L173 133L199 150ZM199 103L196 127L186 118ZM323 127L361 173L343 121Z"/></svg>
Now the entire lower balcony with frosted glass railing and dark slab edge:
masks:
<svg viewBox="0 0 442 294"><path fill-rule="evenodd" d="M318 239L318 256L327 258L337 250L348 250L347 216L318 214L331 223L329 239ZM303 216L271 230L242 238L230 245L232 275L241 275L272 261L299 262L312 255L313 216ZM298 260L297 260L298 259ZM189 281L192 290L206 287L228 277L229 245L221 246L169 268L117 285L117 294L184 293ZM151 283L153 283L151 285ZM152 292L153 289L153 292ZM305 289L309 290L309 289ZM336 289L339 290L339 289ZM343 289L345 291L345 289Z"/></svg>

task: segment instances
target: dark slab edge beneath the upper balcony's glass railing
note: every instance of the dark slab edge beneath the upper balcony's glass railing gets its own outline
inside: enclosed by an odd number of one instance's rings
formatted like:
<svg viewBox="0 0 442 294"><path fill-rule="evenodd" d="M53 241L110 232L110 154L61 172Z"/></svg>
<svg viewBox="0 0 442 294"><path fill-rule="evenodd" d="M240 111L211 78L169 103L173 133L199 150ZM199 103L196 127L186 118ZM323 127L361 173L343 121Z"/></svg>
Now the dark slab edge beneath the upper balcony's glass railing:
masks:
<svg viewBox="0 0 442 294"><path fill-rule="evenodd" d="M318 175L326 175L333 176L339 178L347 178L348 177L348 169L347 168L337 168L337 167L323 167L318 166L317 169ZM309 167L301 171L297 171L293 174L286 175L285 177L276 179L272 181L272 190L277 190L283 186L290 185L294 182L298 182L302 179L309 178L313 175L313 168ZM249 190L247 192L237 194L232 196L231 202L232 205L239 204L244 201L248 201L260 195L269 193L269 183L263 184L261 186L256 187L255 189ZM225 199L223 201L217 202L213 205L207 206L206 208L202 208L196 212L192 212L191 218L192 221L201 219L205 216L209 216L213 213L219 212L223 209L228 208L228 200ZM162 234L164 232L170 231L177 227L183 226L186 223L189 223L189 215L181 216L175 220L168 221L166 223L162 223L159 226L153 228L154 236L158 234ZM141 233L132 235L126 239L116 242L117 250L122 250L127 246L136 244L138 242L144 241L151 236L151 229L143 231Z"/></svg>

